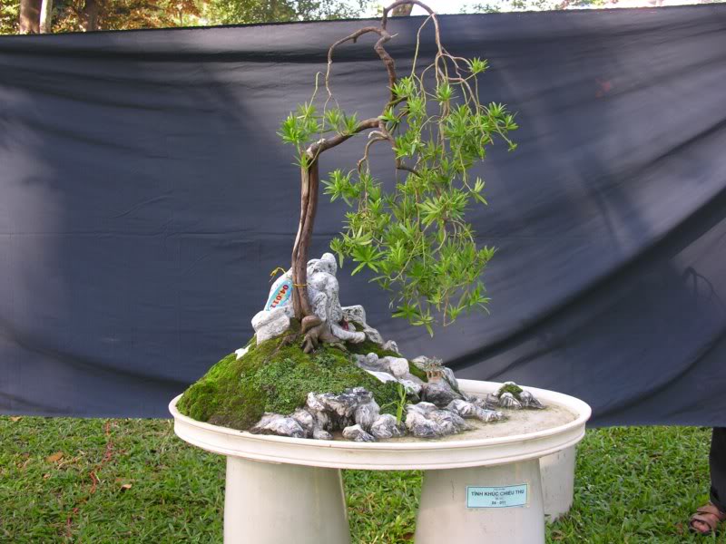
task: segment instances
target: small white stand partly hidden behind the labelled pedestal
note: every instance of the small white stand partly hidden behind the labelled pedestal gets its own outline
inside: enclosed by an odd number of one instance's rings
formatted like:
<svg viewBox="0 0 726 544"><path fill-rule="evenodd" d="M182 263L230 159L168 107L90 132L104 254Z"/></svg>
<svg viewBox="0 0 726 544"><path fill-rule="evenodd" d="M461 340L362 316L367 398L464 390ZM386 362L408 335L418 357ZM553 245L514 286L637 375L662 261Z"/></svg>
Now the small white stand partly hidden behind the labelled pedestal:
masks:
<svg viewBox="0 0 726 544"><path fill-rule="evenodd" d="M539 460L542 471L544 517L554 521L564 516L573 506L575 447L545 455Z"/></svg>

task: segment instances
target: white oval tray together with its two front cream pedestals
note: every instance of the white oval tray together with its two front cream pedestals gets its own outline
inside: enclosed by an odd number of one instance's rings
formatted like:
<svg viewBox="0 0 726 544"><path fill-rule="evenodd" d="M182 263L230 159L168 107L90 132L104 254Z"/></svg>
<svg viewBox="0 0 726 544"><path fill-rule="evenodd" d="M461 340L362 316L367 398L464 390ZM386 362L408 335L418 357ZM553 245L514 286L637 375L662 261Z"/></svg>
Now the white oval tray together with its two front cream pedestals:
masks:
<svg viewBox="0 0 726 544"><path fill-rule="evenodd" d="M475 394L500 385L459 384ZM348 544L340 469L425 471L417 544L541 544L540 459L582 440L590 407L561 393L526 389L545 404L574 413L574 421L496 438L467 440L465 433L450 441L359 443L261 436L197 422L176 410L179 397L169 408L182 440L227 456L225 544ZM571 470L571 464L559 464L559 470ZM554 510L565 502L554 504Z"/></svg>

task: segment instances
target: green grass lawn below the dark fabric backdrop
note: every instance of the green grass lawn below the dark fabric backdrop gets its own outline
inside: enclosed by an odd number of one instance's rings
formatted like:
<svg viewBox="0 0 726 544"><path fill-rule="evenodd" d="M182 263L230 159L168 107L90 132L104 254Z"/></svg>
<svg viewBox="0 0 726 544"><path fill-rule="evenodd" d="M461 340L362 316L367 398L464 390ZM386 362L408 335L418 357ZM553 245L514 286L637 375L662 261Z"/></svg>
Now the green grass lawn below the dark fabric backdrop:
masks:
<svg viewBox="0 0 726 544"><path fill-rule="evenodd" d="M574 509L548 542L726 542L694 537L710 430L589 431ZM0 417L0 542L221 542L224 461L159 420ZM410 543L418 472L345 473L353 541Z"/></svg>

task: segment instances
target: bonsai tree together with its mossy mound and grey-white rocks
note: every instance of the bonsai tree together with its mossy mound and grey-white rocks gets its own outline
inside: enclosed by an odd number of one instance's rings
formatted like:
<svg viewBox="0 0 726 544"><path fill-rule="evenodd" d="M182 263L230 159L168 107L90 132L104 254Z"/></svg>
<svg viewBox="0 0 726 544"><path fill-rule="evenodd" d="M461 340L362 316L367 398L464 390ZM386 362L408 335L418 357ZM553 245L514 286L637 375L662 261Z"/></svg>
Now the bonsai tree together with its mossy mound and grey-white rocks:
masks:
<svg viewBox="0 0 726 544"><path fill-rule="evenodd" d="M385 45L388 15L398 5L417 5L428 17L419 27L410 74L399 77ZM433 26L433 61L417 66L419 39ZM331 87L333 55L365 34L388 74L388 98L373 117L340 108ZM505 411L544 408L515 384L479 398L463 393L454 373L427 356L409 359L395 341L366 321L363 306L339 300L338 262L351 274L375 273L372 282L391 293L393 316L423 326L451 325L473 310L486 310L481 281L495 248L477 244L466 223L472 205L486 205L484 181L470 170L486 148L518 127L501 103L479 102L477 76L486 60L448 53L437 15L418 0L383 9L378 26L364 26L329 46L325 73L317 73L309 102L281 122L284 143L294 146L300 172L300 216L291 266L270 288L252 318L254 337L228 355L184 393L181 413L193 419L294 438L355 442L403 436L436 439L472 429L466 420L495 423ZM322 82L322 85L319 83ZM320 96L323 92L324 96ZM358 134L367 133L356 168L334 170L319 180L319 159ZM393 151L395 190L370 170L374 144ZM398 179L398 176L405 179ZM345 227L330 243L333 253L309 259L320 185L331 200L348 205Z"/></svg>

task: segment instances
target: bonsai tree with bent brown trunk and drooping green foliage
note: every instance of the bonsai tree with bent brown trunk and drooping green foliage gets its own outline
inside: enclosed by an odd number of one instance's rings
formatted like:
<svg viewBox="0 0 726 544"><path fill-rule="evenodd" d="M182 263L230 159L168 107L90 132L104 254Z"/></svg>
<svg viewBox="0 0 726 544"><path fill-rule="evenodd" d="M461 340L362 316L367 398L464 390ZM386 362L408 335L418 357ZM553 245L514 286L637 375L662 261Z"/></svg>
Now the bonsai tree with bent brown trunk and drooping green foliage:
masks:
<svg viewBox="0 0 726 544"><path fill-rule="evenodd" d="M386 50L394 37L388 32L388 15L401 5L419 5L428 13L418 28L413 64L405 75L397 73ZM436 53L432 63L419 66L421 34L429 23ZM388 100L378 115L359 120L356 112L339 107L331 74L338 47L355 44L366 34L377 38L373 49L388 73ZM330 46L327 70L316 75L310 101L282 121L280 137L295 146L300 169L292 302L306 352L332 339L329 323L313 314L306 288L320 157L364 133L367 139L355 167L332 171L322 181L331 200L343 199L349 207L345 228L331 243L341 266L348 257L356 264L353 274L370 270L373 280L390 291L393 316L423 325L431 335L439 319L449 325L462 313L486 309L489 299L480 277L495 249L477 246L474 229L466 222L466 209L486 205L484 181L472 179L469 170L485 159L495 138L514 150L508 133L517 128L504 105L480 102L477 76L486 69L486 60L446 51L437 15L427 5L399 0L383 9L378 26L364 26ZM395 188L388 192L369 168L369 153L378 143L390 148L397 171Z"/></svg>

